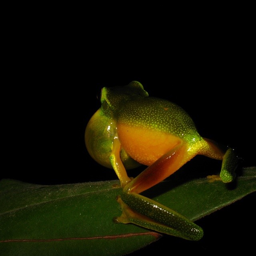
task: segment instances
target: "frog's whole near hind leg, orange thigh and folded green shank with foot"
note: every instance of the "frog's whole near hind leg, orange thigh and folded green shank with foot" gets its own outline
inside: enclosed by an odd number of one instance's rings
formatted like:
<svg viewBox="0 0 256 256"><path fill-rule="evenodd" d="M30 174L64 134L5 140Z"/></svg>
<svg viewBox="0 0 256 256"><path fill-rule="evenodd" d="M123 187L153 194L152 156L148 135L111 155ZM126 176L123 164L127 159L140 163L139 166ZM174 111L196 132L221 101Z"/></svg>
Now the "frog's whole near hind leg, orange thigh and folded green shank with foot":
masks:
<svg viewBox="0 0 256 256"><path fill-rule="evenodd" d="M187 240L200 240L202 228L178 212L138 194L164 180L190 160L193 156L187 152L186 144L178 145L129 182L117 199L122 215L114 221L134 223Z"/></svg>

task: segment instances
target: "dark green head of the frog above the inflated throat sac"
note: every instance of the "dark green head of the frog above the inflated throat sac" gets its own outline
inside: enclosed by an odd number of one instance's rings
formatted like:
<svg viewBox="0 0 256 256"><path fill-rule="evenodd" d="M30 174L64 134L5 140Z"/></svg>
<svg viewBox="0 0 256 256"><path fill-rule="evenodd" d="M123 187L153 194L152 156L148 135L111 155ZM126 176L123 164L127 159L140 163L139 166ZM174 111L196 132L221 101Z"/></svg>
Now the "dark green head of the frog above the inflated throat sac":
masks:
<svg viewBox="0 0 256 256"><path fill-rule="evenodd" d="M101 91L101 106L106 115L115 113L130 100L138 100L148 96L140 82L132 81L126 86L103 87Z"/></svg>

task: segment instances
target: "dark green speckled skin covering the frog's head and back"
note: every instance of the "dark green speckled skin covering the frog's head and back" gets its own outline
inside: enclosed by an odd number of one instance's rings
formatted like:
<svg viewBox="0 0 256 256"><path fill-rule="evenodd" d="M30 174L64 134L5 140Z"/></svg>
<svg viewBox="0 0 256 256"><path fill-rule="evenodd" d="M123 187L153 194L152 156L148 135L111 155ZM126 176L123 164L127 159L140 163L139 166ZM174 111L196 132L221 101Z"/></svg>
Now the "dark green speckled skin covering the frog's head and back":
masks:
<svg viewBox="0 0 256 256"><path fill-rule="evenodd" d="M101 102L105 115L112 120L167 132L182 139L186 139L186 136L200 137L186 111L168 100L148 97L138 82L133 81L127 86L104 87Z"/></svg>

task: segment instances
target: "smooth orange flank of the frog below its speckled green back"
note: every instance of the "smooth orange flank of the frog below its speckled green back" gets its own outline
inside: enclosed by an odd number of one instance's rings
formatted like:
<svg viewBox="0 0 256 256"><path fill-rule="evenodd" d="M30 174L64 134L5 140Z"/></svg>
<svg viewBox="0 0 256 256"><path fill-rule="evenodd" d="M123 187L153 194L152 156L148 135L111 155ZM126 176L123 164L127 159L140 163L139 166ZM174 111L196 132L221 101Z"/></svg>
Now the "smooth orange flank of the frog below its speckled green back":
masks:
<svg viewBox="0 0 256 256"><path fill-rule="evenodd" d="M148 128L118 124L117 130L120 143L127 154L147 166L181 143L181 139L172 134Z"/></svg>

